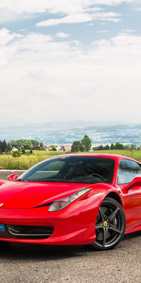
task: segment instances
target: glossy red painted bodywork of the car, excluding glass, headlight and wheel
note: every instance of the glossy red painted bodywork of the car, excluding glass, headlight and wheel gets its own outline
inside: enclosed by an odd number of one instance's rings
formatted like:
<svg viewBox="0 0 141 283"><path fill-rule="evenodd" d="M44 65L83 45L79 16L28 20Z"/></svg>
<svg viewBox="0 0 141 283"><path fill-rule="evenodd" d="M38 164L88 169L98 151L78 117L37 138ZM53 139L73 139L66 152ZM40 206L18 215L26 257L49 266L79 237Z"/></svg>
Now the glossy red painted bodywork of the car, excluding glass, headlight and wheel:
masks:
<svg viewBox="0 0 141 283"><path fill-rule="evenodd" d="M74 154L63 156L74 156ZM0 238L1 241L48 245L92 244L96 239L95 223L98 210L109 193L117 195L120 199L127 221L125 233L141 229L141 186L127 191L127 184L117 185L119 161L127 157L112 154L83 154L83 156L114 159L113 183L78 184L0 180L0 202L3 203L0 207L0 224L54 227L52 235L47 239ZM59 211L49 212L49 206L37 207L70 196L86 187L92 189Z"/></svg>

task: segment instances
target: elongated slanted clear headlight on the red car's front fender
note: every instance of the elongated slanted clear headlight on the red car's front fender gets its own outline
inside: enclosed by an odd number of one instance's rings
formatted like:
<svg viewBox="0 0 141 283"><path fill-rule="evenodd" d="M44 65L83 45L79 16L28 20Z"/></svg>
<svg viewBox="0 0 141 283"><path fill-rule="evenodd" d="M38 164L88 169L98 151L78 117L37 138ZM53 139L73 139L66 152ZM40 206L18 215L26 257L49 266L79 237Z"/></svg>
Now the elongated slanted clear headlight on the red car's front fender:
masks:
<svg viewBox="0 0 141 283"><path fill-rule="evenodd" d="M75 194L72 194L71 196L69 196L67 198L62 198L61 200L54 201L52 203L52 205L50 205L48 211L57 211L57 210L64 208L65 206L70 204L72 201L76 200L77 198L79 198L80 196L82 196L83 194L85 194L86 192L88 192L91 189L92 188L84 188L84 189L76 192Z"/></svg>

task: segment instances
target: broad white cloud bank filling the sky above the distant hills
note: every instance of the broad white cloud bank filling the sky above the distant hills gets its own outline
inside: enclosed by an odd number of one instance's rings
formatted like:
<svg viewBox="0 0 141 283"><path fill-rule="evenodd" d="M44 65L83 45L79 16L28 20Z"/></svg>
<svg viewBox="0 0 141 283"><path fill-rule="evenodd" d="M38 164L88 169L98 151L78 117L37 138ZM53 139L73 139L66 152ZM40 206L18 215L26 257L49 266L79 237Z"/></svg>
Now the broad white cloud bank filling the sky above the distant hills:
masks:
<svg viewBox="0 0 141 283"><path fill-rule="evenodd" d="M83 46L77 40L56 42L50 35L4 29L0 40L1 113L13 114L12 97L19 101L17 117L26 115L35 123L79 119L84 113L92 120L99 115L130 120L132 114L132 121L140 122L139 35ZM135 106L129 99L133 95Z"/></svg>

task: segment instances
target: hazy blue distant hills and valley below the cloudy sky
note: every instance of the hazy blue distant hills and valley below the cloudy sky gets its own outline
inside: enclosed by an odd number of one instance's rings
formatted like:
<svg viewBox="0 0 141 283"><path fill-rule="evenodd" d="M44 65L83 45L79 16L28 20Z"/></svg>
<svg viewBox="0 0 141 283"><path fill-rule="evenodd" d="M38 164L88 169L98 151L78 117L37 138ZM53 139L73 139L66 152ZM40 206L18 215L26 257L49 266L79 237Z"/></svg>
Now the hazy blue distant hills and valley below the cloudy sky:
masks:
<svg viewBox="0 0 141 283"><path fill-rule="evenodd" d="M116 122L115 122L116 123ZM41 124L1 127L1 140L16 140L20 138L37 139L44 144L57 145L72 144L74 140L81 140L87 134L93 145L122 142L139 146L141 144L141 124L110 124L101 121L64 121L47 122Z"/></svg>

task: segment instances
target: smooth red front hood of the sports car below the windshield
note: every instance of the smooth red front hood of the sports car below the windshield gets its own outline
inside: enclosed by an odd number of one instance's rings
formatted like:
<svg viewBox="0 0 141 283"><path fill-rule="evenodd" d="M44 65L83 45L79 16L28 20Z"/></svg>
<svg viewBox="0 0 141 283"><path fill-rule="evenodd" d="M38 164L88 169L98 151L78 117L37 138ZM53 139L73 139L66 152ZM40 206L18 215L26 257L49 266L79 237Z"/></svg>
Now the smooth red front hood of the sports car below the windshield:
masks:
<svg viewBox="0 0 141 283"><path fill-rule="evenodd" d="M70 196L91 184L10 181L0 186L3 208L32 208Z"/></svg>

